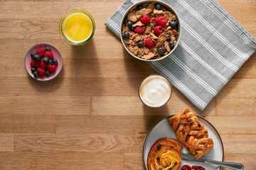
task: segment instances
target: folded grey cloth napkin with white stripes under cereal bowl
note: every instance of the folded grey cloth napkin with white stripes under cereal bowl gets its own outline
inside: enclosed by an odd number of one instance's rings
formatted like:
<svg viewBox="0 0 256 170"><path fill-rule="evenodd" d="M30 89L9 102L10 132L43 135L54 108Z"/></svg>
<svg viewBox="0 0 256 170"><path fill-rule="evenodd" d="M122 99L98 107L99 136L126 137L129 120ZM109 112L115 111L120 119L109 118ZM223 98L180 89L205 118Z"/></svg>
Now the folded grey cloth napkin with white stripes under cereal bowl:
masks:
<svg viewBox="0 0 256 170"><path fill-rule="evenodd" d="M181 20L181 41L169 57L147 64L203 111L255 52L256 39L215 0L162 1ZM122 16L136 2L124 1L105 23L118 38Z"/></svg>

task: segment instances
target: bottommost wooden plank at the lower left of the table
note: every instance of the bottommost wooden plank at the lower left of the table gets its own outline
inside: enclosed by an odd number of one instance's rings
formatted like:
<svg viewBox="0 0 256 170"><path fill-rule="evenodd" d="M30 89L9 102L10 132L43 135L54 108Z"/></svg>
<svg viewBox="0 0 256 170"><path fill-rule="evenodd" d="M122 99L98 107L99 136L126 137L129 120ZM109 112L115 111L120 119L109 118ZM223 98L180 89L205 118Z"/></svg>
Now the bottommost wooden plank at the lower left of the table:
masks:
<svg viewBox="0 0 256 170"><path fill-rule="evenodd" d="M32 169L124 169L124 154L0 152L3 170Z"/></svg>

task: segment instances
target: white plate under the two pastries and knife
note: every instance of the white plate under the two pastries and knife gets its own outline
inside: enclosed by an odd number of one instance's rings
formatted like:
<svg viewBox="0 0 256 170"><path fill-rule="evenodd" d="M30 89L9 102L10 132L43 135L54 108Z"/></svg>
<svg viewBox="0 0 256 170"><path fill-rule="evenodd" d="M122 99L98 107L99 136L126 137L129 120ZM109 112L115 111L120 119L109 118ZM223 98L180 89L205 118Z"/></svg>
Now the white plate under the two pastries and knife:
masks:
<svg viewBox="0 0 256 170"><path fill-rule="evenodd" d="M154 145L154 142L158 140L161 137L169 137L174 138L176 140L177 137L175 135L174 130L171 129L171 126L168 123L168 118L172 115L167 115L164 118L161 118L155 125L151 127L149 132L146 134L144 145L143 145L143 162L144 162L144 168L147 169L146 162L147 157L149 154L149 150L151 149L152 145ZM218 134L217 130L211 125L207 120L204 118L198 116L198 120L200 123L203 123L204 127L208 130L208 135L210 138L213 139L214 146L213 149L210 149L203 157L208 159L213 159L216 161L223 161L223 143L220 139L220 135ZM188 153L188 150L186 147L183 148L182 153ZM220 169L219 166L211 165L211 164L204 164L201 162L191 162L184 159L181 159L181 167L184 164L188 164L190 166L196 165L196 166L203 166L207 170L218 170Z"/></svg>

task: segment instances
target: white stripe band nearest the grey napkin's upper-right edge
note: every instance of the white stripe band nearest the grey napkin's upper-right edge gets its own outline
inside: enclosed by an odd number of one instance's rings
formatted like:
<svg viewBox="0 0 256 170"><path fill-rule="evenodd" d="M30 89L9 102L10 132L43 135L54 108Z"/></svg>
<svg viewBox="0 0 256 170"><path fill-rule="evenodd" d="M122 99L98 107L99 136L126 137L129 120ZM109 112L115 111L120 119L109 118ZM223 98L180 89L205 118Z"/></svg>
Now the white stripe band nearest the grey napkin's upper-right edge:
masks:
<svg viewBox="0 0 256 170"><path fill-rule="evenodd" d="M201 1L203 2L203 4L208 6L208 8L211 11L213 11L213 13L215 13L215 15L218 16L225 24L227 24L227 26L229 26L235 33L237 33L240 36L240 38L245 40L245 43L247 43L247 45L250 45L251 47L256 48L256 43L252 41L252 38L247 36L245 33L242 33L241 30L235 26L235 24L233 24L227 17L223 15L223 13L221 13L218 10L218 8L213 6L213 4L210 4L210 1L208 0L201 0Z"/></svg>

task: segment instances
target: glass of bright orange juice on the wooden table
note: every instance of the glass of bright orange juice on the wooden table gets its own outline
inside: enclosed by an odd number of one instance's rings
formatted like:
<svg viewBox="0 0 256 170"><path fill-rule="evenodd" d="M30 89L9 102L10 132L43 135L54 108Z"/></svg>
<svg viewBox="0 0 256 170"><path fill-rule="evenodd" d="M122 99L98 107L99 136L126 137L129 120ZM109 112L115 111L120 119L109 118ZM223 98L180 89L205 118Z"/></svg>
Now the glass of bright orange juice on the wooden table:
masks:
<svg viewBox="0 0 256 170"><path fill-rule="evenodd" d="M95 21L87 11L72 9L60 19L59 31L68 43L83 45L94 35Z"/></svg>

